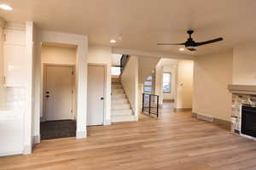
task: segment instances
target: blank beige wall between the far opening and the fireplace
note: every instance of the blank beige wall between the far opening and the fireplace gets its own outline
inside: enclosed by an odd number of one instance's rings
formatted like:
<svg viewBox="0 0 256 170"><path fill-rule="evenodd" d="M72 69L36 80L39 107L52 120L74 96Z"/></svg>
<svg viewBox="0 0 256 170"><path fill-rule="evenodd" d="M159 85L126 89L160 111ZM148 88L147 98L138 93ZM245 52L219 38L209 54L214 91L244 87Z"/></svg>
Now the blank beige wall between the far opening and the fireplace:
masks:
<svg viewBox="0 0 256 170"><path fill-rule="evenodd" d="M233 51L197 56L193 112L230 121Z"/></svg>

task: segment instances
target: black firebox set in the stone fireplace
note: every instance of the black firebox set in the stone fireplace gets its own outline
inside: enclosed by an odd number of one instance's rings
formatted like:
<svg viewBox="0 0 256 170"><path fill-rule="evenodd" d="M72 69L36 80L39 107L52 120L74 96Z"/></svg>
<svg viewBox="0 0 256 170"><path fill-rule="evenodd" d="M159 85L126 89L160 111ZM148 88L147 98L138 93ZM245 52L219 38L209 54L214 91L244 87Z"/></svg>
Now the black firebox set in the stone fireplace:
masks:
<svg viewBox="0 0 256 170"><path fill-rule="evenodd" d="M242 105L241 133L256 138L256 107Z"/></svg>

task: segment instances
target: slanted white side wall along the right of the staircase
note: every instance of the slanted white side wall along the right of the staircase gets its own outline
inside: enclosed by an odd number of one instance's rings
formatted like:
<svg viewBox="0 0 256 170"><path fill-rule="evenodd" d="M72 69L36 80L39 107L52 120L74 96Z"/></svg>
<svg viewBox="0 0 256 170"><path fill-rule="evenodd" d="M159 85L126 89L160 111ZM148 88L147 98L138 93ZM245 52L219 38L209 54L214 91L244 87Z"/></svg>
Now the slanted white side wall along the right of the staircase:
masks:
<svg viewBox="0 0 256 170"><path fill-rule="evenodd" d="M138 57L131 55L125 70L121 75L121 82L125 94L131 104L132 111L138 116Z"/></svg>

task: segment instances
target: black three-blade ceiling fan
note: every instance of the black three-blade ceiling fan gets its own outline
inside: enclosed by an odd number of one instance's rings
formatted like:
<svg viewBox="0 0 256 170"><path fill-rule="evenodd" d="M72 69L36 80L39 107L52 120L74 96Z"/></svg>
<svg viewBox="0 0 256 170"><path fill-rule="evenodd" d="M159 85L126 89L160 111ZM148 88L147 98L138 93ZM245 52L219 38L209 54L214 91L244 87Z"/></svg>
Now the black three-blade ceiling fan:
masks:
<svg viewBox="0 0 256 170"><path fill-rule="evenodd" d="M189 34L189 38L186 42L183 43L158 43L157 45L184 45L185 48L189 49L189 51L196 51L195 47L201 46L201 45L206 45L208 43L213 43L213 42L219 42L219 41L223 41L222 37L218 37L206 42L195 42L193 40L193 38L191 37L191 35L194 33L193 30L189 30L187 31L187 33Z"/></svg>

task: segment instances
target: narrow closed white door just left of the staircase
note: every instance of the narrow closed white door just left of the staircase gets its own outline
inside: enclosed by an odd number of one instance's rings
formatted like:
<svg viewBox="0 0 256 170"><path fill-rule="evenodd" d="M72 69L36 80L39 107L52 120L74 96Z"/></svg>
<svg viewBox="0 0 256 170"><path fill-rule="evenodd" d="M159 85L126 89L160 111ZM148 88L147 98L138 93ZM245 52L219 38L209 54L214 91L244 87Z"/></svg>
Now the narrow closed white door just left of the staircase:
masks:
<svg viewBox="0 0 256 170"><path fill-rule="evenodd" d="M105 67L88 66L87 125L102 125L104 118Z"/></svg>

